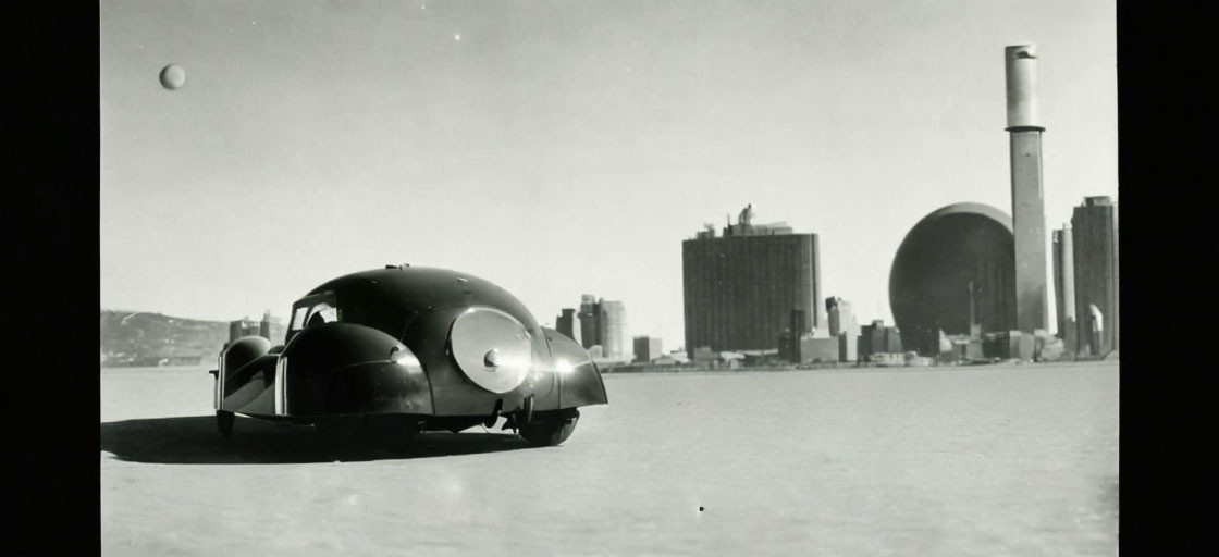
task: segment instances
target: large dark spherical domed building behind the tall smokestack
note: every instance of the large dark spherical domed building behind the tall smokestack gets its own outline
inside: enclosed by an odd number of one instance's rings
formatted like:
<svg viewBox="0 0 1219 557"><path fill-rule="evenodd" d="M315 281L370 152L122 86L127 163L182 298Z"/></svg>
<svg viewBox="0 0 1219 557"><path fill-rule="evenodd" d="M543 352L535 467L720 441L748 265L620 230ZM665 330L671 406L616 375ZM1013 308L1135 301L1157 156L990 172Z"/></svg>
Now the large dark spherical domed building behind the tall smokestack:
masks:
<svg viewBox="0 0 1219 557"><path fill-rule="evenodd" d="M906 234L889 274L889 303L902 345L939 352L939 333L1015 328L1012 217L981 204L953 204Z"/></svg>

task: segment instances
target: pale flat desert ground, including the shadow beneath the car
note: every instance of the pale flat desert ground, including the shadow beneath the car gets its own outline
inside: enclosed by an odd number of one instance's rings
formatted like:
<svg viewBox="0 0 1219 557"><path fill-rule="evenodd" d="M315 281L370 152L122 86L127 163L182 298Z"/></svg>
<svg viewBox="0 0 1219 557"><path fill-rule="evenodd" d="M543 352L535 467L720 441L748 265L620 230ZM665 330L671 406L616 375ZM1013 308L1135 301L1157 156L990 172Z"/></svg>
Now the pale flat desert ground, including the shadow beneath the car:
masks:
<svg viewBox="0 0 1219 557"><path fill-rule="evenodd" d="M607 374L558 447L344 452L241 418L223 442L205 368L102 369L102 553L1112 556L1118 375Z"/></svg>

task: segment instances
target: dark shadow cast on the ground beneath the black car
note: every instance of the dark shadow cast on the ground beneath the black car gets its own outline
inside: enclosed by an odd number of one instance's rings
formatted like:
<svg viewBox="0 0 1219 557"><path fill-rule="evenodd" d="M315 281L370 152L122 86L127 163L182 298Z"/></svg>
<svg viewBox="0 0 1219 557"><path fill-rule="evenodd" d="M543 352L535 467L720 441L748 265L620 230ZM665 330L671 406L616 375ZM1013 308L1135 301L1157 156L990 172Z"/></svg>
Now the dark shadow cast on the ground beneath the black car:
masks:
<svg viewBox="0 0 1219 557"><path fill-rule="evenodd" d="M330 441L308 425L238 418L232 440L215 416L149 418L101 424L101 450L128 462L157 464L291 464L475 455L529 449L508 433L427 433Z"/></svg>

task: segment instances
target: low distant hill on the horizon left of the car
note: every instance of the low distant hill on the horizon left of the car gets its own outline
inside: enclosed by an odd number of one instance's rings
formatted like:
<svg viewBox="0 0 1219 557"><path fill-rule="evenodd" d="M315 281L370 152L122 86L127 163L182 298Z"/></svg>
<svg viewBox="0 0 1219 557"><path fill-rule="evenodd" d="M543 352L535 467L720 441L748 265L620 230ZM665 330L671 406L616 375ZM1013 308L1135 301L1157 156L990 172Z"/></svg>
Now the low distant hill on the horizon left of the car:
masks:
<svg viewBox="0 0 1219 557"><path fill-rule="evenodd" d="M272 321L272 342L283 338L284 325ZM228 340L228 322L101 311L101 367L215 366Z"/></svg>

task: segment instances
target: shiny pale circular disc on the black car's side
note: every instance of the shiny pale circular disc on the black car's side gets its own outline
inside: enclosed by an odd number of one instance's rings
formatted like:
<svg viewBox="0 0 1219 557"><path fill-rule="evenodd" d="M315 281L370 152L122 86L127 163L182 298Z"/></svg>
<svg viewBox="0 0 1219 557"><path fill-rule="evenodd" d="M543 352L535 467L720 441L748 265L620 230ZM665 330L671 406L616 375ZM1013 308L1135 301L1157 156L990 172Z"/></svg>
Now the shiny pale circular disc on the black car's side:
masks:
<svg viewBox="0 0 1219 557"><path fill-rule="evenodd" d="M475 385L508 392L533 369L533 341L512 316L472 307L453 319L449 345L457 366Z"/></svg>

